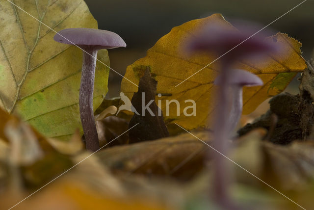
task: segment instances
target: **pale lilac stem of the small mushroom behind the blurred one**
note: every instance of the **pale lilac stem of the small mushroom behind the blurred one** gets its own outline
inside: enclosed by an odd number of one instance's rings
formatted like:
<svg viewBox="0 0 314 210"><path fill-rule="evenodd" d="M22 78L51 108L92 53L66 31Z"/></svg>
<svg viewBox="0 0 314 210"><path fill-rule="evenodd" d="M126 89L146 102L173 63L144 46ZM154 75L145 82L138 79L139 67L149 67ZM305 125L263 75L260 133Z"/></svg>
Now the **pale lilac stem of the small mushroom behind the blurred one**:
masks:
<svg viewBox="0 0 314 210"><path fill-rule="evenodd" d="M230 118L229 118L229 131L232 132L237 123L240 120L241 114L242 114L242 87L239 85L232 85L231 86L232 91L232 106L230 111Z"/></svg>

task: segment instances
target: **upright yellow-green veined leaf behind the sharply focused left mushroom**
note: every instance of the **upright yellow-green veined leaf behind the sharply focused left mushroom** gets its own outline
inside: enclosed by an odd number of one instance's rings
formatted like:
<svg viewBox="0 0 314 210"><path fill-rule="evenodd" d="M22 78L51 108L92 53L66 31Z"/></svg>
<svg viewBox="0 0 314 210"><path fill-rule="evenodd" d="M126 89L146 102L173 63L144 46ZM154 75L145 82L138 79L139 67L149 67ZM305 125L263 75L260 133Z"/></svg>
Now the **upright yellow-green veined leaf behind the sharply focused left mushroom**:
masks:
<svg viewBox="0 0 314 210"><path fill-rule="evenodd" d="M0 107L47 137L69 139L81 129L78 92L82 51L53 40L69 27L97 28L83 0L15 0L0 7ZM47 26L45 26L45 25ZM98 58L109 65L107 51ZM107 92L109 69L97 63L94 108Z"/></svg>

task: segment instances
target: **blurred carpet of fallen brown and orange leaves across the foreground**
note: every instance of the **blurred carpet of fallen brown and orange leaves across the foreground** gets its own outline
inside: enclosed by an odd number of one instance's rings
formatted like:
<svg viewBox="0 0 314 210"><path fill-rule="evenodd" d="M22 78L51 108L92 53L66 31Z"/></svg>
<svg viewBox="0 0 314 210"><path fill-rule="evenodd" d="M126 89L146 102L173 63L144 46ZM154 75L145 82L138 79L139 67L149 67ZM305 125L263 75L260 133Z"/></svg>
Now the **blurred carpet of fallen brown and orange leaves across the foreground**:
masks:
<svg viewBox="0 0 314 210"><path fill-rule="evenodd" d="M25 122L6 112L0 113L0 117L8 119L0 124L0 129L4 129L1 139L8 141L0 139L3 153L0 156L1 208L11 208L76 163L79 164L15 208L87 210L105 206L113 210L174 210L185 205L196 208L196 204L200 209L212 207L213 202L205 191L208 192L214 180L210 179L211 171L206 171L204 166L210 166L208 153L213 150L189 133L115 146L90 156L88 152L71 150L71 147L77 148L75 138L79 136L73 136L68 144L54 143L54 150L43 144L51 141L44 138L38 142L37 134ZM211 144L208 131L193 133ZM310 209L314 192L311 185L314 180L313 142L274 145L261 140L265 133L255 130L235 140L231 143L230 158ZM60 145L68 147L61 150L68 155L58 152ZM242 168L230 164L235 167L236 184L232 194L237 202L249 207L258 205L259 208L254 209L261 210L295 209L289 200ZM191 182L182 184L174 180Z"/></svg>

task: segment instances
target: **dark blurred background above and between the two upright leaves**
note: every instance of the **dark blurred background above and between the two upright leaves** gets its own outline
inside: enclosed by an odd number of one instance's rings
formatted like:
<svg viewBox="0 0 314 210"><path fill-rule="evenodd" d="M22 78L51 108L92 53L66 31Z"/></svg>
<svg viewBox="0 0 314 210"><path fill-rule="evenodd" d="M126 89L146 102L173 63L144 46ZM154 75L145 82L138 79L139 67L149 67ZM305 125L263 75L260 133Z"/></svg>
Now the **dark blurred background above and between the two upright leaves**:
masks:
<svg viewBox="0 0 314 210"><path fill-rule="evenodd" d="M126 49L109 50L110 66L122 75L128 65L145 56L172 27L222 13L227 21L243 19L266 26L302 0L85 0L100 29L119 34ZM305 59L314 49L314 0L307 0L269 26L303 43ZM121 76L110 72L106 97L118 96ZM295 84L295 85L293 85ZM290 89L296 89L296 82Z"/></svg>

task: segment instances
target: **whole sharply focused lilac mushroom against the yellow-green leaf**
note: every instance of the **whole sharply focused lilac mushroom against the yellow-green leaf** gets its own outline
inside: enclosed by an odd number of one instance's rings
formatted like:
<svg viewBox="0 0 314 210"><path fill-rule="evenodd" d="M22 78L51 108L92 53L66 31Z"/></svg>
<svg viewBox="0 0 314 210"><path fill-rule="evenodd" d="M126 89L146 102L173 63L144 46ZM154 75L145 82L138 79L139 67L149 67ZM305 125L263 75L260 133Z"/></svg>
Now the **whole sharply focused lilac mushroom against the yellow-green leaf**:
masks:
<svg viewBox="0 0 314 210"><path fill-rule="evenodd" d="M82 77L79 88L79 112L84 131L86 149L99 149L93 111L93 91L97 53L101 49L126 47L126 43L116 33L93 28L67 28L53 37L54 41L76 45L83 50Z"/></svg>

